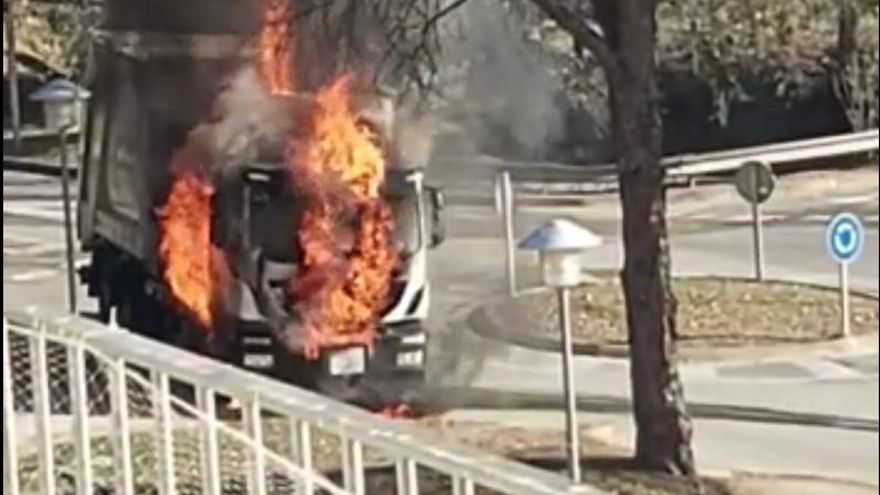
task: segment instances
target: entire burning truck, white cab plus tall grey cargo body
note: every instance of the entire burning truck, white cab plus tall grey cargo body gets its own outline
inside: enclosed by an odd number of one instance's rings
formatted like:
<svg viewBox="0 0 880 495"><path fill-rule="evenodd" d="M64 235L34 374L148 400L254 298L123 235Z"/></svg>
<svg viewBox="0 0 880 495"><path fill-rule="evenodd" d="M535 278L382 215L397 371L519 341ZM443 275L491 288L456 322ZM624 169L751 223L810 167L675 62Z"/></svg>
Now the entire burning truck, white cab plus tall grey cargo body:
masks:
<svg viewBox="0 0 880 495"><path fill-rule="evenodd" d="M428 340L427 252L444 238L443 194L425 184L421 170L388 168L382 197L393 212L402 263L375 341L325 349L311 360L283 345L276 330L288 315L273 291L296 269L296 233L284 220L284 208L296 206L285 197L283 162L254 159L215 177L211 242L230 260L232 290L218 328L205 332L180 311L161 276L155 211L171 180L171 153L207 113L199 88L236 63L210 59L202 67L210 71L184 77L192 53L180 54L170 42L158 55L138 46L126 38L126 51L109 42L97 47L90 85L77 223L82 249L91 253L80 275L98 299L99 317L115 313L134 332L352 402L395 402L418 386ZM187 106L187 95L205 102Z"/></svg>

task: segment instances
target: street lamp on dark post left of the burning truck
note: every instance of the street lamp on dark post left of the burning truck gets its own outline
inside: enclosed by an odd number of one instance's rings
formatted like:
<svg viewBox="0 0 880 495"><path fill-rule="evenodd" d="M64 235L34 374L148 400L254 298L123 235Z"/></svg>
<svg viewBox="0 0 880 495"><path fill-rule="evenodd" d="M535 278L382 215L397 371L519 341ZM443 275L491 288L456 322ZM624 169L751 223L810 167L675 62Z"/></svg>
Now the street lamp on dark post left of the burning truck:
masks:
<svg viewBox="0 0 880 495"><path fill-rule="evenodd" d="M73 222L70 214L67 134L79 129L83 103L88 98L88 91L66 79L53 79L30 97L32 101L43 104L46 127L58 133L58 145L61 151L61 194L64 201L64 241L67 255L67 297L71 313L76 313L76 281L73 264Z"/></svg>

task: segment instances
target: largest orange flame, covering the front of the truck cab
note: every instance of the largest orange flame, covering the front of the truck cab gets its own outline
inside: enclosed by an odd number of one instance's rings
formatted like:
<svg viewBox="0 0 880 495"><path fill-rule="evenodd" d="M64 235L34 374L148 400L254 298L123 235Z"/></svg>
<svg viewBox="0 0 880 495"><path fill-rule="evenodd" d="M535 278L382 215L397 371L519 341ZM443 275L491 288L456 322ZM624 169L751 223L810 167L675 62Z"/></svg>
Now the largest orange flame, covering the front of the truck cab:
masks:
<svg viewBox="0 0 880 495"><path fill-rule="evenodd" d="M312 135L291 156L309 205L298 233L302 267L290 292L310 357L325 346L372 344L398 258L391 210L379 194L385 155L355 117L350 90L343 76L318 92Z"/></svg>

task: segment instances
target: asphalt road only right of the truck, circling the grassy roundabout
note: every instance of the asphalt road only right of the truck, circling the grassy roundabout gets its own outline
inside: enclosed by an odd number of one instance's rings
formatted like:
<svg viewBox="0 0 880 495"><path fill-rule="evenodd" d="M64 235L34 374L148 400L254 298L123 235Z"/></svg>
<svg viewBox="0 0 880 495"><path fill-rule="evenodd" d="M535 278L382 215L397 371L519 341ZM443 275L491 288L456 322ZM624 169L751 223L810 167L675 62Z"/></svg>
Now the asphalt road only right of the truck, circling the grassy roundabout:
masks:
<svg viewBox="0 0 880 495"><path fill-rule="evenodd" d="M766 205L766 274L833 285L836 265L825 252L824 227L843 210L866 220L863 256L850 269L852 287L878 292L878 195L876 168L866 174L840 174L832 184L787 179ZM873 179L871 179L873 177ZM825 177L824 179L827 179ZM824 180L823 179L823 180ZM753 274L748 208L723 186L670 195L673 271L676 274ZM676 203L676 200L679 200ZM596 198L582 208L524 208L516 215L517 238L552 216L566 216L605 237L606 244L585 254L591 269L618 269L621 261L615 198ZM474 302L506 290L501 223L490 209L462 206L450 211L455 238L435 253L432 268L438 328L450 335L443 345L458 356L438 380L447 386L503 390L492 400L469 395L483 411L458 411L459 418L491 418L524 424L555 424L558 413L510 412L538 407L538 397L561 395L560 362L552 353L510 348L479 337L458 335ZM535 284L536 260L518 254L519 287ZM681 366L694 414L695 450L708 472L750 470L842 478L876 486L878 448L877 341L819 354ZM578 357L582 421L611 427L608 437L631 445L629 376L625 361ZM548 402L551 399L548 398ZM498 410L502 407L504 410ZM488 409L491 408L491 409ZM854 424L860 426L854 427Z"/></svg>

